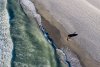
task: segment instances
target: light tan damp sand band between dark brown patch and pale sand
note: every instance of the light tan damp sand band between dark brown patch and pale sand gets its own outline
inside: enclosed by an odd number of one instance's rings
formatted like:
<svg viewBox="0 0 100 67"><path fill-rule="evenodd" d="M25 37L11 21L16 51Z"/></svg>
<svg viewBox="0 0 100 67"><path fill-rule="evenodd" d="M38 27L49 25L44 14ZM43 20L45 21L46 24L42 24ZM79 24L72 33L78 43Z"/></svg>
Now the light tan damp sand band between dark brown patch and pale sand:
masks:
<svg viewBox="0 0 100 67"><path fill-rule="evenodd" d="M47 10L43 4L41 4L36 0L31 0L31 1L35 4L39 14L48 21L48 25L51 24L58 30L60 30L60 35L61 35L60 40L63 43L63 45L60 46L69 47L72 50L72 52L74 52L78 56L83 67L98 67L100 65L99 62L95 61L87 52L85 52L83 48L79 47L78 43L76 43L73 39L71 39L69 42L66 41L65 37L67 37L68 33L65 32L64 27L60 25L59 22L53 18L53 16L49 13L49 10ZM49 30L49 33L51 32L52 31Z"/></svg>

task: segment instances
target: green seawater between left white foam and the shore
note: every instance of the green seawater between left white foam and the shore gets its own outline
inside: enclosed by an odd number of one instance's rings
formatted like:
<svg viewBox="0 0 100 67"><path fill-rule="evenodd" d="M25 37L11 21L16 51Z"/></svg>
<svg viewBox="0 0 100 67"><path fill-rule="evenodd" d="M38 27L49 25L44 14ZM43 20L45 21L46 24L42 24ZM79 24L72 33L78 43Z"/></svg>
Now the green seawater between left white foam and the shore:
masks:
<svg viewBox="0 0 100 67"><path fill-rule="evenodd" d="M8 0L7 8L14 43L12 67L57 67L54 50L36 21L27 17L17 0Z"/></svg>

